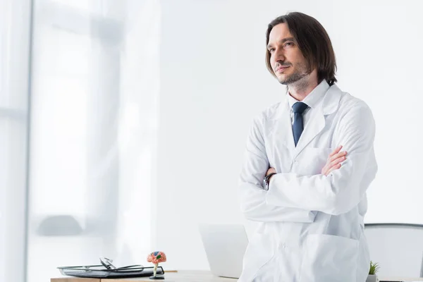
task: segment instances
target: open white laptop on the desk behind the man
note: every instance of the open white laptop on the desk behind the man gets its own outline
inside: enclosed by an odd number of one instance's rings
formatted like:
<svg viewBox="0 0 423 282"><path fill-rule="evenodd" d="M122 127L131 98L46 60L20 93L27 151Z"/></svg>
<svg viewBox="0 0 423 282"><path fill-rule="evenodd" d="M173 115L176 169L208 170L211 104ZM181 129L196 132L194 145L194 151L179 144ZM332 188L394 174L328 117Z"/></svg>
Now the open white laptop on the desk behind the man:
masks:
<svg viewBox="0 0 423 282"><path fill-rule="evenodd" d="M241 224L200 224L200 235L210 270L215 276L239 278L248 245Z"/></svg>

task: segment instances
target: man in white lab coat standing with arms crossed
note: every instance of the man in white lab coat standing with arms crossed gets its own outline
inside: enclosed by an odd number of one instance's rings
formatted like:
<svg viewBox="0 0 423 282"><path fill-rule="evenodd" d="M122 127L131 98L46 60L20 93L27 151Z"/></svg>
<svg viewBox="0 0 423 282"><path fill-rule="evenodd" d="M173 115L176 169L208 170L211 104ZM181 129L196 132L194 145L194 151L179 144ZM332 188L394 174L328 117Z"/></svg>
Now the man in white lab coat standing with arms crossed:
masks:
<svg viewBox="0 0 423 282"><path fill-rule="evenodd" d="M240 202L259 226L239 281L364 282L372 111L335 85L331 41L314 18L276 18L266 45L267 68L288 92L254 119L247 139Z"/></svg>

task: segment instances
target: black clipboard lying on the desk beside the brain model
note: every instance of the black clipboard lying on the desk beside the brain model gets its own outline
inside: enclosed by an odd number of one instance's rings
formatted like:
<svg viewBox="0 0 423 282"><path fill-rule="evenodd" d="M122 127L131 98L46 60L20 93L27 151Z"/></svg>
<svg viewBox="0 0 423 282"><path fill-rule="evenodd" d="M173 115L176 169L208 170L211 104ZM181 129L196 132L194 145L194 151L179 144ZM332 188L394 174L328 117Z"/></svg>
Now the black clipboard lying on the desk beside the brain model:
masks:
<svg viewBox="0 0 423 282"><path fill-rule="evenodd" d="M59 266L61 274L81 278L135 278L154 275L154 266L142 265L123 266L117 269L107 269L104 265ZM163 267L157 266L157 274L164 274Z"/></svg>

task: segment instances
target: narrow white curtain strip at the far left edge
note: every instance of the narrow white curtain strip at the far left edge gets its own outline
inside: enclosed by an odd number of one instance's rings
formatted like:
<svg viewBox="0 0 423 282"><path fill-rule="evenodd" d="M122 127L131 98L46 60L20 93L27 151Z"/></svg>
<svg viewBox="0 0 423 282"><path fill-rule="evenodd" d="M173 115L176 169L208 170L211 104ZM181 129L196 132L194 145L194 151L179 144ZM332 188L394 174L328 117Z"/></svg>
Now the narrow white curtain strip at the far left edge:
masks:
<svg viewBox="0 0 423 282"><path fill-rule="evenodd" d="M23 281L30 1L0 0L0 281Z"/></svg>

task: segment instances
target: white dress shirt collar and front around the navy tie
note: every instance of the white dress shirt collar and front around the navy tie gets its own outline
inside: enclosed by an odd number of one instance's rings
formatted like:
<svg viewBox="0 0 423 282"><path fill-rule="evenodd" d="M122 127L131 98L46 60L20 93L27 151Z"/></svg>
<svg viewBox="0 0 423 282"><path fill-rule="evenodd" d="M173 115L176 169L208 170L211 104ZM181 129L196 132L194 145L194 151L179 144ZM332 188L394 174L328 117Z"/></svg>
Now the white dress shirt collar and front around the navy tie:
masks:
<svg viewBox="0 0 423 282"><path fill-rule="evenodd" d="M309 117L311 116L313 109L317 106L317 104L319 103L320 99L322 99L324 97L324 94L328 90L329 90L329 85L326 82L326 80L323 80L302 101L298 101L297 99L295 99L294 97L292 97L289 94L289 92L288 92L287 95L288 95L288 104L290 106L291 123L294 124L293 104L295 104L296 102L303 102L303 103L307 104L307 106L309 106L302 113L302 125L305 128L305 125L307 125L307 122L309 121Z"/></svg>

